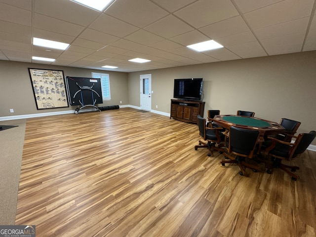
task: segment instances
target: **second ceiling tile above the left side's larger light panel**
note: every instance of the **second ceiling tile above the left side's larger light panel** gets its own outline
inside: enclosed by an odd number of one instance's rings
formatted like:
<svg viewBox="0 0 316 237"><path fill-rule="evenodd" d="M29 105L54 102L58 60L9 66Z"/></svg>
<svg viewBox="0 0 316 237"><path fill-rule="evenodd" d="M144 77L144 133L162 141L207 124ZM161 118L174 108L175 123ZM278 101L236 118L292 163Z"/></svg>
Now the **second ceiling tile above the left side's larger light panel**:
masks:
<svg viewBox="0 0 316 237"><path fill-rule="evenodd" d="M34 28L68 36L78 36L84 27L35 13Z"/></svg>

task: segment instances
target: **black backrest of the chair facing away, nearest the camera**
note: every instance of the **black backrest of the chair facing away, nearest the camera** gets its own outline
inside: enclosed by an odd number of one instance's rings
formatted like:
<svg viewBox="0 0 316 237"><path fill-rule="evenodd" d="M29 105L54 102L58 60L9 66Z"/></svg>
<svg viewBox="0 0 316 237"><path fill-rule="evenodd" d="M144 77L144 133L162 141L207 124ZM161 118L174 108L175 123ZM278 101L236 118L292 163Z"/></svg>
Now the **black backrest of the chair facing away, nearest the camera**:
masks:
<svg viewBox="0 0 316 237"><path fill-rule="evenodd" d="M258 137L258 130L231 126L229 132L229 151L237 155L240 154L252 158Z"/></svg>

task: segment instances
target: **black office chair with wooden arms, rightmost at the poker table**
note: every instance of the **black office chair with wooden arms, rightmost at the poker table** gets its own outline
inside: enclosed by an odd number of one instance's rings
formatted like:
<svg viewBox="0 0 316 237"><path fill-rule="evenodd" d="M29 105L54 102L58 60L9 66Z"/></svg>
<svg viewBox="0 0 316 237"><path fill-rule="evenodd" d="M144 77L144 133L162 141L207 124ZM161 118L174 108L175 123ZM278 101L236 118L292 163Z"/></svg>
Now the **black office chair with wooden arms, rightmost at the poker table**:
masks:
<svg viewBox="0 0 316 237"><path fill-rule="evenodd" d="M309 133L300 133L298 136L289 135L291 138L295 138L295 142L285 142L277 140L274 137L269 137L272 140L270 147L266 148L263 153L272 157L272 165L267 166L267 172L272 173L272 168L280 168L289 175L293 180L297 180L299 176L294 173L298 166L290 166L282 164L281 161L291 160L304 153L308 146L313 142L316 137L316 131L310 131ZM291 139L290 139L291 140Z"/></svg>

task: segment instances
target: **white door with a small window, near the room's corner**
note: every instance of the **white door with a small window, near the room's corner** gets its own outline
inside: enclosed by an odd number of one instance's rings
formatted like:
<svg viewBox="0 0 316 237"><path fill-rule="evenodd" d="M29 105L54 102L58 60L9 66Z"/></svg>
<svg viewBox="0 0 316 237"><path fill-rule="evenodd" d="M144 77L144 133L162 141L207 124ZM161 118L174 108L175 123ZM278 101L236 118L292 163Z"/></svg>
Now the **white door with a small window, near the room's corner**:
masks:
<svg viewBox="0 0 316 237"><path fill-rule="evenodd" d="M152 75L140 75L140 109L152 110Z"/></svg>

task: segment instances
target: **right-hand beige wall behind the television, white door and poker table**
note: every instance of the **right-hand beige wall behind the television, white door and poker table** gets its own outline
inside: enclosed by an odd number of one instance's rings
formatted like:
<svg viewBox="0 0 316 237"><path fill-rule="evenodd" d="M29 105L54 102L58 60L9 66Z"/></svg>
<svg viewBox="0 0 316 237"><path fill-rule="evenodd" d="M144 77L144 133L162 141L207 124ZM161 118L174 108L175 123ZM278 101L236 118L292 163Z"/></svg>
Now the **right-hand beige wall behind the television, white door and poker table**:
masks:
<svg viewBox="0 0 316 237"><path fill-rule="evenodd" d="M298 131L309 132L316 130L315 62L316 51L309 51L129 73L129 104L140 105L141 74L152 74L152 109L165 113L170 113L174 79L203 78L204 117L209 109L221 114L247 110L277 122L301 121Z"/></svg>

